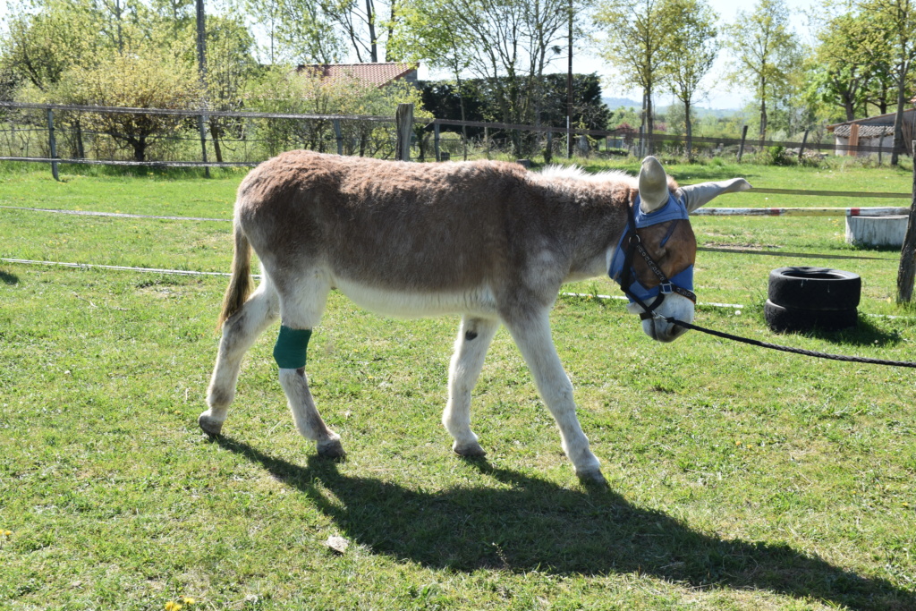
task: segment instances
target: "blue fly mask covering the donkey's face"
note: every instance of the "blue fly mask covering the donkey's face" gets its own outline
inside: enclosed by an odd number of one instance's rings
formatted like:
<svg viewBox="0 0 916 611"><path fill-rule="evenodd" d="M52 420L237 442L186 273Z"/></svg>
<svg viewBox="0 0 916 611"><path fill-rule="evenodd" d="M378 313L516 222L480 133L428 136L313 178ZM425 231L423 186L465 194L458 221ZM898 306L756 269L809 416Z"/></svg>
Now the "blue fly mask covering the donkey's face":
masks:
<svg viewBox="0 0 916 611"><path fill-rule="evenodd" d="M666 295L678 293L696 303L696 295L693 294L693 266L687 266L680 272L668 278L661 271L646 249L639 243L637 229L649 227L653 224L668 223L670 221L685 221L688 219L687 207L684 203L676 199L669 193L668 202L660 209L651 213L644 213L639 205L639 196L632 206L627 206L627 231L620 236L617 242L614 256L611 258L610 268L607 275L610 276L620 289L626 293L630 303L638 303L642 306L643 312L640 318L651 318L652 311L655 311L661 305ZM661 240L661 245L671 237L676 225L671 225L668 235ZM627 239L627 248L624 248L624 240ZM649 269L659 278L658 286L648 289L639 283L636 270L633 268L633 255L639 253L645 260ZM646 305L646 301L653 299L651 305Z"/></svg>

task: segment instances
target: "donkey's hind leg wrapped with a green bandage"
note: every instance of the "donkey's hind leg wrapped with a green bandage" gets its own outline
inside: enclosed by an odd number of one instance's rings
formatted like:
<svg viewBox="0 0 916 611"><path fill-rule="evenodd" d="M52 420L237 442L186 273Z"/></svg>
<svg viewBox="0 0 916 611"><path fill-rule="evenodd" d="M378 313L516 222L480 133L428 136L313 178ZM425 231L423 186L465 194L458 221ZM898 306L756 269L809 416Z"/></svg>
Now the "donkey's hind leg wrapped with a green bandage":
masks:
<svg viewBox="0 0 916 611"><path fill-rule="evenodd" d="M328 428L315 408L305 375L306 348L311 329L322 319L330 283L320 274L287 278L280 291L280 334L274 348L280 386L286 394L296 428L316 442L318 453L329 458L344 456L340 435Z"/></svg>

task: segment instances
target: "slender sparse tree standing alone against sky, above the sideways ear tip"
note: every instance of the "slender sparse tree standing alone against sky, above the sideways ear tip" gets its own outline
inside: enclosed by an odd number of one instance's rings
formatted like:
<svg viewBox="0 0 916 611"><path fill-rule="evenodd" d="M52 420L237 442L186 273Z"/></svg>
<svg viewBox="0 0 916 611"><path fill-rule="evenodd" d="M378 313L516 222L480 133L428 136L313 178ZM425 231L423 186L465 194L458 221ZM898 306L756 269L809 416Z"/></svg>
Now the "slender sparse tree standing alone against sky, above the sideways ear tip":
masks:
<svg viewBox="0 0 916 611"><path fill-rule="evenodd" d="M728 28L728 46L735 69L730 80L753 83L762 143L767 137L768 103L789 90L791 73L801 65L801 49L784 0L758 0L753 13L739 11Z"/></svg>

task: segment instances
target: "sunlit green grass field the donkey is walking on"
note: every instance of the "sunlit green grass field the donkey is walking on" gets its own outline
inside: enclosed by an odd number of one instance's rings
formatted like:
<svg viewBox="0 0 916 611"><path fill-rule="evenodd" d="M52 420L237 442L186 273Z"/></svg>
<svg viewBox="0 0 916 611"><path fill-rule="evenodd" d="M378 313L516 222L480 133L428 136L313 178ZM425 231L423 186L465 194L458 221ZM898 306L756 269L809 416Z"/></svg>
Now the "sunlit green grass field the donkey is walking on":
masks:
<svg viewBox="0 0 916 611"><path fill-rule="evenodd" d="M911 191L909 169L668 169L683 183ZM0 170L0 205L228 219L243 176L48 174ZM742 307L701 307L696 322L916 360L916 312L893 300L899 254L845 245L843 223L697 217L699 299ZM0 208L0 257L222 272L229 232ZM767 275L785 265L861 274L859 328L770 333ZM656 344L616 300L561 297L556 344L610 483L595 491L505 331L474 393L488 455L462 460L439 423L457 317L386 319L335 293L309 358L348 452L333 463L292 425L273 331L246 359L224 438L197 428L224 284L0 262L0 608L916 609L911 370L699 333ZM564 289L619 294L606 278Z"/></svg>

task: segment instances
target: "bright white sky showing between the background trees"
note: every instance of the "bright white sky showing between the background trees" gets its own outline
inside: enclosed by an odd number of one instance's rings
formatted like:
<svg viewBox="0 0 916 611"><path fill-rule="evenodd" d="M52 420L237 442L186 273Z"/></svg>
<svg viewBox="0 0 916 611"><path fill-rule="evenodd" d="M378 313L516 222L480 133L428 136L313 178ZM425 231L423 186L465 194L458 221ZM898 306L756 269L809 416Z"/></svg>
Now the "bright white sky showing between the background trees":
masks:
<svg viewBox="0 0 916 611"><path fill-rule="evenodd" d="M751 11L757 3L747 0L707 0L720 16L720 24L725 25L732 23L738 11ZM812 10L821 5L821 0L786 0L793 13L792 24L802 42L808 42L807 18L803 16L802 11ZM7 0L0 0L0 20L4 19L7 11ZM565 71L565 58L556 62L556 71ZM735 88L723 84L716 84L722 81L722 75L727 69L725 57L720 57L716 62L713 71L709 77L709 93L705 99L699 102L699 106L706 108L741 108L749 98L749 93L745 91L736 91ZM597 72L602 77L602 86L605 97L629 97L630 99L640 100L642 93L638 91L622 90L619 85L614 83L616 73L613 69L605 66L603 60L600 60L596 54L583 51L576 57L573 57L573 71L579 73ZM447 75L440 75L426 71L420 67L420 78L447 78ZM660 95L656 100L657 105L671 104L671 96Z"/></svg>

